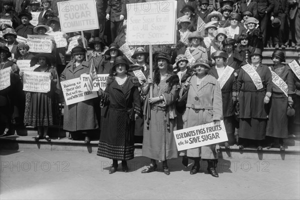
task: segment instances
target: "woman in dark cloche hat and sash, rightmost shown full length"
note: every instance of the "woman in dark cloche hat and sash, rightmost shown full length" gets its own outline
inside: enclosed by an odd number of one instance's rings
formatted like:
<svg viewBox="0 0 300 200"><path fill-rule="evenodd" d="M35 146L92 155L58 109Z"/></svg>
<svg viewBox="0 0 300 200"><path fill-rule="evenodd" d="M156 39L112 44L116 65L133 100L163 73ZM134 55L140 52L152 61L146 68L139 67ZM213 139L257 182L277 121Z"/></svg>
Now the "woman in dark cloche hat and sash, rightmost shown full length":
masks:
<svg viewBox="0 0 300 200"><path fill-rule="evenodd" d="M272 97L270 100L269 120L266 126L268 145L271 148L275 138L279 140L280 150L284 150L283 138L287 138L286 109L292 106L291 94L295 90L293 84L293 72L285 62L285 55L281 50L275 50L272 54L273 65L269 67L272 73Z"/></svg>

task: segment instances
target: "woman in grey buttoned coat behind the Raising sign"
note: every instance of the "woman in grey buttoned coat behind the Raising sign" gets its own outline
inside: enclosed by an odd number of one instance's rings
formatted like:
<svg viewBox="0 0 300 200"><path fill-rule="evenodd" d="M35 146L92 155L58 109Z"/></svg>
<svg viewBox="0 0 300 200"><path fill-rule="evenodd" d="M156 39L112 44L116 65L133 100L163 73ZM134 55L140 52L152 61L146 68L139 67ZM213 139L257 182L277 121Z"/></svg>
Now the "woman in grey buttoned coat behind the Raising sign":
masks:
<svg viewBox="0 0 300 200"><path fill-rule="evenodd" d="M80 77L89 73L89 64L84 60L86 50L75 46L71 50L75 60L70 61L60 74L60 81ZM63 129L70 131L72 139L78 139L77 133L85 135L84 142L90 143L90 130L98 128L95 113L95 100L88 99L66 105L64 103Z"/></svg>

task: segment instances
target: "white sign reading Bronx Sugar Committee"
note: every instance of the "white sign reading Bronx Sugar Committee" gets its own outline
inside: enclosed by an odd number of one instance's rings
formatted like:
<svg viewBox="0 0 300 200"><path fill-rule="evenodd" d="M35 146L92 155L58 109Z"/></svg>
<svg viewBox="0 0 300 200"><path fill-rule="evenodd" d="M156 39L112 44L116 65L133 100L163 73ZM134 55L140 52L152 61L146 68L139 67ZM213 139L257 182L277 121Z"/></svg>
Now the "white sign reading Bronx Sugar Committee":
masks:
<svg viewBox="0 0 300 200"><path fill-rule="evenodd" d="M69 0L57 2L62 32L99 28L95 0Z"/></svg>

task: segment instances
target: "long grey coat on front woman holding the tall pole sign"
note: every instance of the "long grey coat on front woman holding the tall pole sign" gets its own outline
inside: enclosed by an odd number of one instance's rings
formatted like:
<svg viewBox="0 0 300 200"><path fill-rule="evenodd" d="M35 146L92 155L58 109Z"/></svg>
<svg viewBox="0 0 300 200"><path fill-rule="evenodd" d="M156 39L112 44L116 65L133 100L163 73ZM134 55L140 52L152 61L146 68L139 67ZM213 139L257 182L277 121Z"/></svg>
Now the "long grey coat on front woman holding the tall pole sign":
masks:
<svg viewBox="0 0 300 200"><path fill-rule="evenodd" d="M177 75L167 76L160 83L153 84L153 97L162 95L163 101L149 104L148 97L144 107L144 133L142 141L142 155L166 160L177 157L177 146L173 134L176 130L176 110L174 102L177 98L177 83L171 88L166 80L175 79ZM170 90L169 90L170 89ZM169 90L169 91L168 91Z"/></svg>

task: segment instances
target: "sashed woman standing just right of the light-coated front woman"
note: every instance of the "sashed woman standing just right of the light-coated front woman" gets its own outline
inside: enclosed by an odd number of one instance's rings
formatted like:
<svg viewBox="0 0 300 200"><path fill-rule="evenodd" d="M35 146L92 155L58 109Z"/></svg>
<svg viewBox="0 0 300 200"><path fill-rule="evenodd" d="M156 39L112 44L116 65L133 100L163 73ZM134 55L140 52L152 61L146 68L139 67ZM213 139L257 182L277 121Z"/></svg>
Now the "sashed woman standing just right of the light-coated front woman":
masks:
<svg viewBox="0 0 300 200"><path fill-rule="evenodd" d="M224 51L215 51L211 54L211 58L215 60L215 66L209 70L209 74L215 77L221 86L224 125L227 133L228 141L224 142L225 148L235 143L234 131L237 121L234 119L234 105L236 103L236 78L234 76L234 68L226 63L228 54ZM226 65L225 65L226 63ZM223 74L227 74L223 76Z"/></svg>

